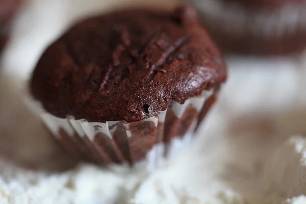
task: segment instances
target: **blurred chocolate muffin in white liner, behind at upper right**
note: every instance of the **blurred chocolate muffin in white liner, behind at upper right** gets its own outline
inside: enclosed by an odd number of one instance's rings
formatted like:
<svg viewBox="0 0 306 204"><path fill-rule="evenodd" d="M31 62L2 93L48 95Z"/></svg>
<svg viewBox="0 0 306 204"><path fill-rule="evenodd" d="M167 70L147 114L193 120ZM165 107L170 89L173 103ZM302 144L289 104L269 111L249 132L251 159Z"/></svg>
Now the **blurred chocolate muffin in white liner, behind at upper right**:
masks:
<svg viewBox="0 0 306 204"><path fill-rule="evenodd" d="M186 0L228 53L296 54L306 47L303 0Z"/></svg>

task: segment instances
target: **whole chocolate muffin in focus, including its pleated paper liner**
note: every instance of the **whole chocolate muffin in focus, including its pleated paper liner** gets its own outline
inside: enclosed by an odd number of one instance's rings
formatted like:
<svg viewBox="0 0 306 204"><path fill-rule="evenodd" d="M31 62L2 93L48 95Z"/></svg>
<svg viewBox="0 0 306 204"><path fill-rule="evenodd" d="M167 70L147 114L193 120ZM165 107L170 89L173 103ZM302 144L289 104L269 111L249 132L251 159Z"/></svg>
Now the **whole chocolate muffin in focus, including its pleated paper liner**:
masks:
<svg viewBox="0 0 306 204"><path fill-rule="evenodd" d="M45 50L30 88L73 155L135 164L174 154L225 78L193 9L131 9L74 25Z"/></svg>

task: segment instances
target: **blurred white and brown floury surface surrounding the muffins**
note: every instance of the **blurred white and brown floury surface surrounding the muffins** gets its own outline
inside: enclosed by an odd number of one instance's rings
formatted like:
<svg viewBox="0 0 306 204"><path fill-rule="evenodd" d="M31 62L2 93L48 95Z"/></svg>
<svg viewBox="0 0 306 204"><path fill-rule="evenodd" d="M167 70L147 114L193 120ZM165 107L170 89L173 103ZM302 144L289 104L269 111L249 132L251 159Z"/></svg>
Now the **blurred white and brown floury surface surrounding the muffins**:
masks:
<svg viewBox="0 0 306 204"><path fill-rule="evenodd" d="M86 3L85 3L86 2ZM64 155L21 97L44 47L77 18L175 1L28 0L0 81L0 203L306 203L306 60L227 57L229 78L198 139L154 172L112 171ZM15 163L21 166L12 164Z"/></svg>

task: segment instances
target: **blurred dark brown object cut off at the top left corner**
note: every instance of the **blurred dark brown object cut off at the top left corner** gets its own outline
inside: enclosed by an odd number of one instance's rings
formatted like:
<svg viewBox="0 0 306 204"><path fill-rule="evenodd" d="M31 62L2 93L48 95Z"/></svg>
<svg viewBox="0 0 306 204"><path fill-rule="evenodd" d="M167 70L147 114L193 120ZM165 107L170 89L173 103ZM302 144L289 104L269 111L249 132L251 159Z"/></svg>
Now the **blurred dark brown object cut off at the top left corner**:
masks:
<svg viewBox="0 0 306 204"><path fill-rule="evenodd" d="M21 0L0 0L0 52L3 50L10 30L10 20L19 8Z"/></svg>

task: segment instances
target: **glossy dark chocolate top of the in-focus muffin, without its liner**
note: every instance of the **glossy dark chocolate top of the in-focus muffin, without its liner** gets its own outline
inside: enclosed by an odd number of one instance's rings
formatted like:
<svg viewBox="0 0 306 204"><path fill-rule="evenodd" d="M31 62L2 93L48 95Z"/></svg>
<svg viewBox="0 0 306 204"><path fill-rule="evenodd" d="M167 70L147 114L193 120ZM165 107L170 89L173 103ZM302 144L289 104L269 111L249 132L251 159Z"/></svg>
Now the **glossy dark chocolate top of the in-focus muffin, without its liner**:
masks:
<svg viewBox="0 0 306 204"><path fill-rule="evenodd" d="M131 9L78 23L40 58L31 91L49 113L127 122L184 104L226 78L196 12Z"/></svg>

